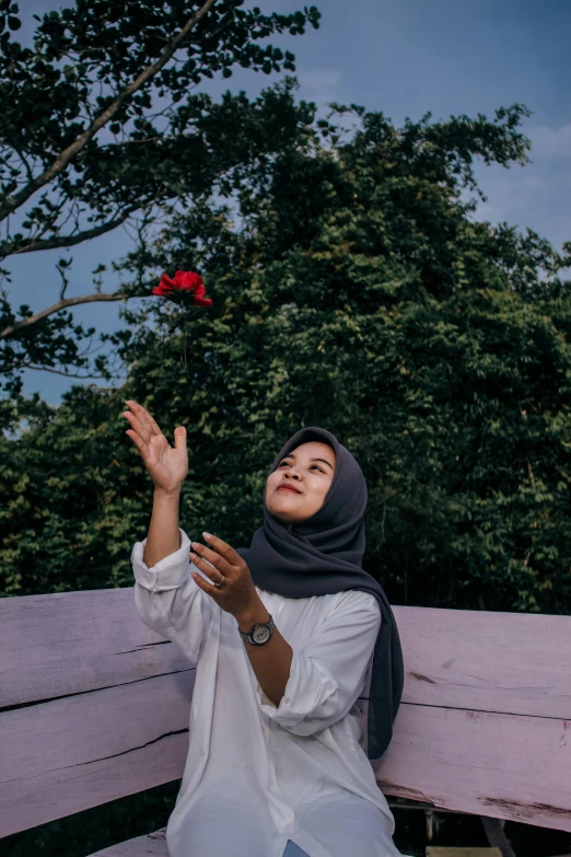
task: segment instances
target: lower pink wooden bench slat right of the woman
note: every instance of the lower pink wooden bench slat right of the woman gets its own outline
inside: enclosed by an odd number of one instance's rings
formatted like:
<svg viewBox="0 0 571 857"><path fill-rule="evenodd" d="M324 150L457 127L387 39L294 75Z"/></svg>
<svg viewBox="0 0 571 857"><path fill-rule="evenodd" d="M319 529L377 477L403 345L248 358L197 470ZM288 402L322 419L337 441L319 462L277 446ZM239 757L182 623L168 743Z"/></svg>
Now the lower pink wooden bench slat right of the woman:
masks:
<svg viewBox="0 0 571 857"><path fill-rule="evenodd" d="M385 795L571 831L571 721L404 705Z"/></svg>

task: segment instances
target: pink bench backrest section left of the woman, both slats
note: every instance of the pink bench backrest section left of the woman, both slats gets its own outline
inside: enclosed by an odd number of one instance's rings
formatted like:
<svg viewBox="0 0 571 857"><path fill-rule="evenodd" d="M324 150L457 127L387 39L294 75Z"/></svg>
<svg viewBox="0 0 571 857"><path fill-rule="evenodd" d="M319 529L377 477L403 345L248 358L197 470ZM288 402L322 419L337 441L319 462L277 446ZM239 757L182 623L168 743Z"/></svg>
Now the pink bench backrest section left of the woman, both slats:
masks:
<svg viewBox="0 0 571 857"><path fill-rule="evenodd" d="M0 836L182 777L194 679L131 587L0 600Z"/></svg>

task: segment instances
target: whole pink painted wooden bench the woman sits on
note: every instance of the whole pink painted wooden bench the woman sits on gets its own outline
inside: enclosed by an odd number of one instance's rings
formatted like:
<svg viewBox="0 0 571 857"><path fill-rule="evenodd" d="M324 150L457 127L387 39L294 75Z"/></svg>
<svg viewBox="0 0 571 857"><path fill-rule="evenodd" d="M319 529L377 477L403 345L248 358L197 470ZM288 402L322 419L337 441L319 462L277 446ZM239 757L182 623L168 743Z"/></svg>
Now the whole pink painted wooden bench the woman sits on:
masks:
<svg viewBox="0 0 571 857"><path fill-rule="evenodd" d="M384 794L571 831L571 617L394 613L406 681ZM194 679L132 588L0 600L0 836L179 779ZM97 854L164 857L164 829Z"/></svg>

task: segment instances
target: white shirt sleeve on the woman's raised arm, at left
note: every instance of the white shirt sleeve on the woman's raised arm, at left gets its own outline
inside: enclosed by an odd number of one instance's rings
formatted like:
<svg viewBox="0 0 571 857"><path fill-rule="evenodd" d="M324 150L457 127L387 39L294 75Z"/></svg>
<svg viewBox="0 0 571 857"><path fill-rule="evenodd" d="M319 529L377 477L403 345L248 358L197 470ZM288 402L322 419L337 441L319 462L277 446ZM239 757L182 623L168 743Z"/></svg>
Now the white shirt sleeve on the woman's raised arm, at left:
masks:
<svg viewBox="0 0 571 857"><path fill-rule="evenodd" d="M147 538L131 553L135 604L145 625L176 642L196 664L205 628L210 624L211 599L190 576L190 540L179 530L180 547L149 568L143 561ZM199 571L196 566L193 566Z"/></svg>

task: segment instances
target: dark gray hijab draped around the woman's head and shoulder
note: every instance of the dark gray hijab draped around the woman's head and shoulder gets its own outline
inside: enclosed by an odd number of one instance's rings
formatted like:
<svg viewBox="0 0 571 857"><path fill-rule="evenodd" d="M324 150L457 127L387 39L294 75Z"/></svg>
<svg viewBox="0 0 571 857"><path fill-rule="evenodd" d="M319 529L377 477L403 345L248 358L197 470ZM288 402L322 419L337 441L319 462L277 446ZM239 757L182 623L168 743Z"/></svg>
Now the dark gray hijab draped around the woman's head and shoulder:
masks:
<svg viewBox="0 0 571 857"><path fill-rule="evenodd" d="M322 508L311 518L284 524L268 511L249 547L237 549L254 583L286 598L328 595L348 589L371 592L381 607L368 715L370 760L381 758L393 737L404 684L400 638L393 611L381 584L362 567L365 548L366 484L349 450L326 429L300 429L282 447L268 476L286 455L302 443L328 443L336 454L334 478Z"/></svg>

